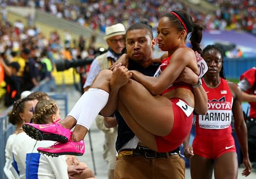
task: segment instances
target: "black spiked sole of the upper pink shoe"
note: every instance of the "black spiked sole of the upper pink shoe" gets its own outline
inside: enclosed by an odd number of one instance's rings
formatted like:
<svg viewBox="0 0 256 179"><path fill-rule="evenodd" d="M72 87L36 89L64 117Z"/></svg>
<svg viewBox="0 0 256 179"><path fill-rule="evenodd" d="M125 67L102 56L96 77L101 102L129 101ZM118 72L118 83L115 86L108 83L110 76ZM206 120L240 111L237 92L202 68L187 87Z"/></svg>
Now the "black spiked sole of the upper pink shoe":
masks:
<svg viewBox="0 0 256 179"><path fill-rule="evenodd" d="M35 140L51 140L51 141L56 141L61 143L68 142L68 138L65 136L42 132L28 124L23 124L22 127L25 133Z"/></svg>

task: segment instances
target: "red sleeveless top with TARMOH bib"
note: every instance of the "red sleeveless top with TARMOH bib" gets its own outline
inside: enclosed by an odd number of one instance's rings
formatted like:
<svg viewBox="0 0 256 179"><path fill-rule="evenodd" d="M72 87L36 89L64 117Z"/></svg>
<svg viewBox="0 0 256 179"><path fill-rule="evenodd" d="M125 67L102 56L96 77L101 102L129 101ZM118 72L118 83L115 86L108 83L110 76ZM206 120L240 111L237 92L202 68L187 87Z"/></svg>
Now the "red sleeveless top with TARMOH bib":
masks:
<svg viewBox="0 0 256 179"><path fill-rule="evenodd" d="M215 88L202 85L208 97L206 115L196 116L196 136L216 137L231 135L231 114L233 97L227 81L221 78Z"/></svg>

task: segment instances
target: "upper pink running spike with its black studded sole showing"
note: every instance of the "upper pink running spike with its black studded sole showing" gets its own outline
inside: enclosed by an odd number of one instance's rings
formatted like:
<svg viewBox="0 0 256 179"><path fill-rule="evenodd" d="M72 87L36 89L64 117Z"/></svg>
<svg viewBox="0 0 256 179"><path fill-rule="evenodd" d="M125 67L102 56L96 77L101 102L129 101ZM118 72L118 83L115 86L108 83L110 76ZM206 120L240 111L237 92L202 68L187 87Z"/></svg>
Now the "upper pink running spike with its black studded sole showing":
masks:
<svg viewBox="0 0 256 179"><path fill-rule="evenodd" d="M35 140L52 140L61 143L68 142L71 137L71 131L60 125L58 121L59 120L52 124L24 123L22 127L25 133Z"/></svg>

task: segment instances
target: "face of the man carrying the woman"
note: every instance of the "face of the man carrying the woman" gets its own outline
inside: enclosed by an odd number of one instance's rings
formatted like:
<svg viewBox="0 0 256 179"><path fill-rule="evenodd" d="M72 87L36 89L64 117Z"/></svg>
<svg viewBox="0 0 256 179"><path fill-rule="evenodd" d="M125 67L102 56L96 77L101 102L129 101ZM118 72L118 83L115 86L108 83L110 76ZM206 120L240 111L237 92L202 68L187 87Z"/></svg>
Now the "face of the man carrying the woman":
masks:
<svg viewBox="0 0 256 179"><path fill-rule="evenodd" d="M152 57L155 44L155 39L152 40L145 29L136 29L126 33L127 54L137 63L147 61Z"/></svg>

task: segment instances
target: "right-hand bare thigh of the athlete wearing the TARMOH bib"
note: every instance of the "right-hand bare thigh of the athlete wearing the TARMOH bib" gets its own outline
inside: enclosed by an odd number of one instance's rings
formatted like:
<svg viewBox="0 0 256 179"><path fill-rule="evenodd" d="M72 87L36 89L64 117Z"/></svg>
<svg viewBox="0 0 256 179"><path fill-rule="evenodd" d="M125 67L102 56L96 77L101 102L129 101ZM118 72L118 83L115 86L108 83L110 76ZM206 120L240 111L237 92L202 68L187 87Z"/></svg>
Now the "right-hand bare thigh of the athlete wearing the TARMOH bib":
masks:
<svg viewBox="0 0 256 179"><path fill-rule="evenodd" d="M214 174L216 179L238 178L238 157L236 152L227 152L215 160Z"/></svg>

